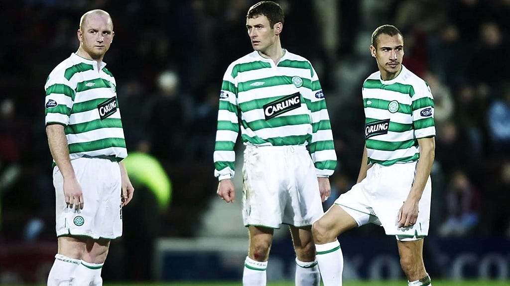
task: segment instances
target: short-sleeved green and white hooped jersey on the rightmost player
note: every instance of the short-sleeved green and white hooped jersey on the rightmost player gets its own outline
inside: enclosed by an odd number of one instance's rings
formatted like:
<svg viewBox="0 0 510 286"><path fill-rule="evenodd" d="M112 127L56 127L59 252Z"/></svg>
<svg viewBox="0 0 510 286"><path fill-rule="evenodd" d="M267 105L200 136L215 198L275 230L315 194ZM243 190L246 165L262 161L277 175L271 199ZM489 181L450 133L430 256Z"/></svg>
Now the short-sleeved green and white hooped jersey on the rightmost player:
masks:
<svg viewBox="0 0 510 286"><path fill-rule="evenodd" d="M392 80L382 80L379 71L371 74L362 93L368 163L418 160L418 139L436 135L428 84L402 66Z"/></svg>

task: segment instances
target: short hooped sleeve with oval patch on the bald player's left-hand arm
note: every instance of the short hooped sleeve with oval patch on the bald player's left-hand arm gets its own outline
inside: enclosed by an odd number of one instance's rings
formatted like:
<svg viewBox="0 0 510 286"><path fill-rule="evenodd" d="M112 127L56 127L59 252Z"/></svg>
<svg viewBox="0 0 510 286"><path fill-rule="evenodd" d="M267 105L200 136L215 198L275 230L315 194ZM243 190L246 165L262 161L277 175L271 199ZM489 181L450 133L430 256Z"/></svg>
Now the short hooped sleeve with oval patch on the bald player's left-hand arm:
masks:
<svg viewBox="0 0 510 286"><path fill-rule="evenodd" d="M59 76L53 73L49 75L44 89L46 91L44 111L46 125L56 123L67 126L74 102L75 90L63 75Z"/></svg>

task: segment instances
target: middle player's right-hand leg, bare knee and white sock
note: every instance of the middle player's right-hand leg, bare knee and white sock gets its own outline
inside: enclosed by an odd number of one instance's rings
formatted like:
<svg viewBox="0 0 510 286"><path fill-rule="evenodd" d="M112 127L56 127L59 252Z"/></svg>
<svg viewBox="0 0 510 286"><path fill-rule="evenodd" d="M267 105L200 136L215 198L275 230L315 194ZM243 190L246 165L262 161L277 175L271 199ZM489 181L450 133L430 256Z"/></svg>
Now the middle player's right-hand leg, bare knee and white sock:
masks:
<svg viewBox="0 0 510 286"><path fill-rule="evenodd" d="M312 227L289 226L296 251L296 286L319 286L320 274L315 259Z"/></svg>

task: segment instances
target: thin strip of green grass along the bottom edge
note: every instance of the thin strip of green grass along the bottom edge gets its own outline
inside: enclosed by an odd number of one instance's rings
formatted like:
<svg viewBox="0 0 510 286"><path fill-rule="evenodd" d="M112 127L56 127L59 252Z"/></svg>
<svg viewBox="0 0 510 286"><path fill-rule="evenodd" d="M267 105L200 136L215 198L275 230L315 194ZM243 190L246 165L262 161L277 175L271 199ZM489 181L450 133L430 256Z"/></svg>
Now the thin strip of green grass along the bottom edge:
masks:
<svg viewBox="0 0 510 286"><path fill-rule="evenodd" d="M172 283L105 283L104 286L239 286L241 281L238 282L172 282ZM343 286L406 286L407 281L399 280L385 280L385 281L344 281ZM510 280L434 280L432 279L433 286L508 286ZM21 286L21 285L10 285ZM43 286L43 285L34 285ZM267 286L294 286L293 281L282 282L268 282Z"/></svg>

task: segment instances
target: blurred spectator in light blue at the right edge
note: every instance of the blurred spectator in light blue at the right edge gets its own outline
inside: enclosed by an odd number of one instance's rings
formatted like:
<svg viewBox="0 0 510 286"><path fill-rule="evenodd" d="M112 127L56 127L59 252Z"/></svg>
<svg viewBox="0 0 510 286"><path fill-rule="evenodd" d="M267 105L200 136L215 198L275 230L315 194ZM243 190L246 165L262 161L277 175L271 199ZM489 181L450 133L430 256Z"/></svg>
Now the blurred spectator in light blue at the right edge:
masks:
<svg viewBox="0 0 510 286"><path fill-rule="evenodd" d="M503 85L499 97L487 112L490 154L501 156L510 150L510 82Z"/></svg>

